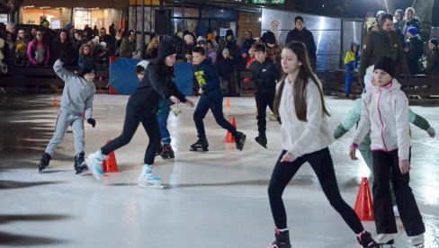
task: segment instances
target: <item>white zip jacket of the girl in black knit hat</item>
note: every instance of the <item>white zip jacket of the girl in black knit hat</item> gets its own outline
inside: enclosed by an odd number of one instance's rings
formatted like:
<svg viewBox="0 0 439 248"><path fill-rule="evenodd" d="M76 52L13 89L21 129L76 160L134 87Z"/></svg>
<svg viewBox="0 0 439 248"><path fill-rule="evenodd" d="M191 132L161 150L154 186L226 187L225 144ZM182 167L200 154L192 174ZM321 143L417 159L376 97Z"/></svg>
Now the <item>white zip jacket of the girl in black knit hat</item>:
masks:
<svg viewBox="0 0 439 248"><path fill-rule="evenodd" d="M408 159L410 134L408 99L396 79L384 87L373 86L363 99L362 117L354 135L354 146L371 131L372 151L398 149L399 159Z"/></svg>

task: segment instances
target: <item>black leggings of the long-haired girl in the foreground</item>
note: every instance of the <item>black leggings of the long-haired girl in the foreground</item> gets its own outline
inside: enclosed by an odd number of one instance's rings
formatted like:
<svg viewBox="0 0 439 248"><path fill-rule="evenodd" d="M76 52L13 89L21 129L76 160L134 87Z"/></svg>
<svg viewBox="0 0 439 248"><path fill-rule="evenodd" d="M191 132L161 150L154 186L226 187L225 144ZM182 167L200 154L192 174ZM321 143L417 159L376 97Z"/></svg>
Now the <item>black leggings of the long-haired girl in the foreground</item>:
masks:
<svg viewBox="0 0 439 248"><path fill-rule="evenodd" d="M325 148L314 153L302 155L296 158L293 162L281 163L280 160L285 153L286 151L283 150L279 156L273 169L270 186L268 187L270 207L272 208L276 227L279 229L287 228L287 214L285 212L285 207L283 206L282 193L292 177L300 169L300 166L305 162L308 162L316 173L318 182L320 182L322 190L327 196L331 206L343 217L345 223L355 234L361 233L364 228L360 219L355 214L354 209L347 205L345 200L342 199L340 190L338 190L336 173L334 172L334 164L332 164L329 149Z"/></svg>

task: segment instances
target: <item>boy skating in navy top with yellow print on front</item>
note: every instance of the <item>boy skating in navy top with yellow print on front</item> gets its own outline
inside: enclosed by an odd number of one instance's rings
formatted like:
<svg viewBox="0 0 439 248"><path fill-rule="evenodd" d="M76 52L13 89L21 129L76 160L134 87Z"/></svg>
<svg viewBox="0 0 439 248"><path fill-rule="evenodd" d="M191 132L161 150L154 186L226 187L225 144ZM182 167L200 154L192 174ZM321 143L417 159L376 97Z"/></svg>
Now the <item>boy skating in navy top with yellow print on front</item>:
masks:
<svg viewBox="0 0 439 248"><path fill-rule="evenodd" d="M209 151L209 143L204 130L202 120L206 117L207 111L211 110L215 120L221 128L227 129L237 142L237 149L242 151L246 143L246 135L238 132L230 122L224 119L222 113L222 93L219 87L219 75L215 67L206 58L206 52L202 47L193 48L193 72L195 78L200 85L198 93L201 94L195 112L193 112L193 120L195 128L197 128L198 140L191 146L191 151Z"/></svg>

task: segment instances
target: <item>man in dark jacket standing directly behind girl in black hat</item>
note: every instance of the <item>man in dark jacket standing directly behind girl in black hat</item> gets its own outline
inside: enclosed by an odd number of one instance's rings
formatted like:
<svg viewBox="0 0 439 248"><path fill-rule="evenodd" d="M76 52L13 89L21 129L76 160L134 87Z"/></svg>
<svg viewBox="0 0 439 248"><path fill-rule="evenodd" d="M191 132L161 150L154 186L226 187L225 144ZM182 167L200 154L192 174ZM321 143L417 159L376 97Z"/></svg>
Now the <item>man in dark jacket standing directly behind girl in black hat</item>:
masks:
<svg viewBox="0 0 439 248"><path fill-rule="evenodd" d="M390 13L381 15L381 25L378 31L371 31L368 39L363 43L362 56L360 57L360 68L358 69L358 81L364 85L364 82L371 82L373 77L373 65L383 56L388 56L395 60L401 67L405 75L405 81L408 81L410 72L404 49L398 33L392 30L393 16Z"/></svg>

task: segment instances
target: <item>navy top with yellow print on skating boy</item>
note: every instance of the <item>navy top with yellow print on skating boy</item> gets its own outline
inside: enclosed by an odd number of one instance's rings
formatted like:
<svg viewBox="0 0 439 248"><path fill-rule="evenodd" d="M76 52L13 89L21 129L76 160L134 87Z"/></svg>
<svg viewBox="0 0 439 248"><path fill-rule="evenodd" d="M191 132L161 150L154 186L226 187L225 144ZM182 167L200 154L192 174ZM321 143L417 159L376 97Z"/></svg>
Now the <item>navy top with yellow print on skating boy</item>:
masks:
<svg viewBox="0 0 439 248"><path fill-rule="evenodd" d="M202 61L202 64L193 66L193 74L202 88L202 95L216 99L222 97L221 88L219 87L219 75L214 66L208 60Z"/></svg>

